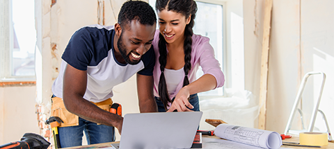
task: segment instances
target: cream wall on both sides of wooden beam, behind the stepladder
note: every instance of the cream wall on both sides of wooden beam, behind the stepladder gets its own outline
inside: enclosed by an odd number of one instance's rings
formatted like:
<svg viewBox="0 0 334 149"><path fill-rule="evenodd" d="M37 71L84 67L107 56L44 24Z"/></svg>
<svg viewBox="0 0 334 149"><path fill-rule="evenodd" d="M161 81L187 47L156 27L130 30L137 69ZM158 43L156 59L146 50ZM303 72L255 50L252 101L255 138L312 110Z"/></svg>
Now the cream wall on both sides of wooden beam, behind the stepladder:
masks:
<svg viewBox="0 0 334 149"><path fill-rule="evenodd" d="M309 71L324 71L327 74L319 109L324 111L333 129L333 7L330 0L273 1L267 130L284 132L301 78ZM264 0L244 0L245 88L257 97L260 92L263 13ZM303 110L312 109L319 91L319 79L308 82L310 87L304 91ZM324 128L324 121L316 123L316 127Z"/></svg>

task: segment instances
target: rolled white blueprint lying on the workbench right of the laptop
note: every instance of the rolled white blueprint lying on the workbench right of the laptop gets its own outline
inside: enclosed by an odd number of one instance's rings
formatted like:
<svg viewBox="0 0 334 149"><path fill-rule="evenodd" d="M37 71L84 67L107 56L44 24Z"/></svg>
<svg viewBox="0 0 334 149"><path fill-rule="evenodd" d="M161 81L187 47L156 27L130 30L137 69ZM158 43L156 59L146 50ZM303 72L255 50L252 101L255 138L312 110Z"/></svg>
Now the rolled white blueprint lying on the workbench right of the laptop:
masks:
<svg viewBox="0 0 334 149"><path fill-rule="evenodd" d="M214 134L222 139L245 143L260 148L277 149L282 146L280 134L268 130L246 128L223 123L216 127Z"/></svg>

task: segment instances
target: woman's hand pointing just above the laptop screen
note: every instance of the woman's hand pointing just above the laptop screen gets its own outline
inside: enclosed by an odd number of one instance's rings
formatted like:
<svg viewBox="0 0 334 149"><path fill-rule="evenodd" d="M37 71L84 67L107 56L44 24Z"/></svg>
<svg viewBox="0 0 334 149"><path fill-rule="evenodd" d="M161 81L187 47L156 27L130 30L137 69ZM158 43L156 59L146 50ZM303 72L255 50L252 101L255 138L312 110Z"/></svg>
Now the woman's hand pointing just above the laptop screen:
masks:
<svg viewBox="0 0 334 149"><path fill-rule="evenodd" d="M177 112L191 112L190 109L193 109L193 105L189 103L189 96L189 89L186 86L180 89L167 112L173 112L175 109L177 109Z"/></svg>

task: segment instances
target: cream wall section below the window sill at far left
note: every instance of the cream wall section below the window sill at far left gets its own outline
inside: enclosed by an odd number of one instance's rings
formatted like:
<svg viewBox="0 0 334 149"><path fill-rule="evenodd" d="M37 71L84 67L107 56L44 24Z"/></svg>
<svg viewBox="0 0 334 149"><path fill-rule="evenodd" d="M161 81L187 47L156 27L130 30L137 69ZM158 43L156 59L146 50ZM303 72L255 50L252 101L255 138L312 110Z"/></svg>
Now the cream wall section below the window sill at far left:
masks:
<svg viewBox="0 0 334 149"><path fill-rule="evenodd" d="M19 141L26 132L40 133L35 95L35 85L0 87L0 145Z"/></svg>

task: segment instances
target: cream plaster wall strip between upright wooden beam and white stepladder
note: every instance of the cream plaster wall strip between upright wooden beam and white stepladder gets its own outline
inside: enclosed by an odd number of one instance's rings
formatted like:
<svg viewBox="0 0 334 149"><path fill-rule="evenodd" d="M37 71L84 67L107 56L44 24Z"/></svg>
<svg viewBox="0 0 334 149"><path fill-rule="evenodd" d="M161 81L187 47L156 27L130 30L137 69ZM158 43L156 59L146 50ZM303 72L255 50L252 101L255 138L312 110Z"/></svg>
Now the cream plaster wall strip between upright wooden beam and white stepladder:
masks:
<svg viewBox="0 0 334 149"><path fill-rule="evenodd" d="M271 17L267 130L283 133L301 81L299 1L273 1Z"/></svg>

